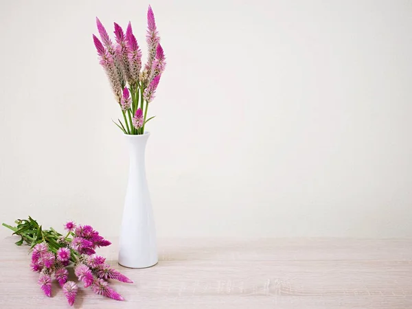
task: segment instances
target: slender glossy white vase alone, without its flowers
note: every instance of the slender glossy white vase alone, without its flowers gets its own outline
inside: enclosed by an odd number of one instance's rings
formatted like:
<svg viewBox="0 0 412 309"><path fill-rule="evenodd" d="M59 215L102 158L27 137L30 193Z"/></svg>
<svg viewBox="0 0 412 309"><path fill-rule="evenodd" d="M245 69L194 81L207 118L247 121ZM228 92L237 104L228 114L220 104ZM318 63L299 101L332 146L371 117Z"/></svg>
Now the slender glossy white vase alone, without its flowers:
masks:
<svg viewBox="0 0 412 309"><path fill-rule="evenodd" d="M148 132L125 135L130 165L120 231L119 264L130 268L145 268L157 263L155 220L144 159L149 135Z"/></svg>

